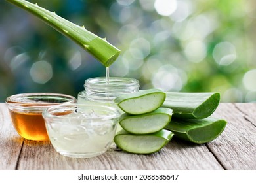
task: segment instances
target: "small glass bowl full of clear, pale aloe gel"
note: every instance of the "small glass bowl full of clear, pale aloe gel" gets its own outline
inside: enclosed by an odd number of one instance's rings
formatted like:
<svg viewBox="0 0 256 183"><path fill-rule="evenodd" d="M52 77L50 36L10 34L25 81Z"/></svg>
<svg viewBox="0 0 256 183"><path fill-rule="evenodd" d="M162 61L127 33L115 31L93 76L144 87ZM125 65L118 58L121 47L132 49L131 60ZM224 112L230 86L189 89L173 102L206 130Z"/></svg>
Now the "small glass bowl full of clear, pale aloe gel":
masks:
<svg viewBox="0 0 256 183"><path fill-rule="evenodd" d="M91 158L108 150L120 113L106 105L67 104L43 112L51 144L63 156Z"/></svg>

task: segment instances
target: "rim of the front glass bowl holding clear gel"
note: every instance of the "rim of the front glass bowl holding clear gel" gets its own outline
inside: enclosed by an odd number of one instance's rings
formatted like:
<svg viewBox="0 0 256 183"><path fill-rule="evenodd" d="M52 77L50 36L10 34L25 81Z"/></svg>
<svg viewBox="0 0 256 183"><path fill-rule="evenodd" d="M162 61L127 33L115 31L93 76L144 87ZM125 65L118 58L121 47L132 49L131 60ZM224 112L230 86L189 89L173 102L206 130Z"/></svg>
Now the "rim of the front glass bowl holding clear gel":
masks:
<svg viewBox="0 0 256 183"><path fill-rule="evenodd" d="M72 112L77 111L81 107L81 110L79 113L76 113L75 116L66 116L61 114L66 114L65 112ZM101 112L108 112L109 114L99 115L99 116L90 116L85 112L85 109L93 111L101 111ZM67 113L70 114L70 113ZM87 114L85 116L84 114ZM79 116L82 116L83 118L86 118L87 120L109 120L114 118L119 118L120 112L114 108L109 107L106 105L92 105L92 104L77 104L77 103L67 103L67 104L61 104L53 107L49 107L43 111L43 118L58 118L58 119L77 119Z"/></svg>

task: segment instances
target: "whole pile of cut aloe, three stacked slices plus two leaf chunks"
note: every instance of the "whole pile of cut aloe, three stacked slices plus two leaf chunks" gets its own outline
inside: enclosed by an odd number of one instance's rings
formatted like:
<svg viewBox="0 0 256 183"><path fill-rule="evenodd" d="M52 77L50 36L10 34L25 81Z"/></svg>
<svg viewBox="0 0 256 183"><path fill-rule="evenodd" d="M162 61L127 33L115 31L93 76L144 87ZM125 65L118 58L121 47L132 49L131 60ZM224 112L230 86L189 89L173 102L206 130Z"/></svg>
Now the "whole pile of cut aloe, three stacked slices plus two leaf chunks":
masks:
<svg viewBox="0 0 256 183"><path fill-rule="evenodd" d="M163 92L158 89L120 95L115 103L125 113L116 145L135 154L161 150L172 137L196 144L221 135L226 121L210 117L219 105L219 93Z"/></svg>

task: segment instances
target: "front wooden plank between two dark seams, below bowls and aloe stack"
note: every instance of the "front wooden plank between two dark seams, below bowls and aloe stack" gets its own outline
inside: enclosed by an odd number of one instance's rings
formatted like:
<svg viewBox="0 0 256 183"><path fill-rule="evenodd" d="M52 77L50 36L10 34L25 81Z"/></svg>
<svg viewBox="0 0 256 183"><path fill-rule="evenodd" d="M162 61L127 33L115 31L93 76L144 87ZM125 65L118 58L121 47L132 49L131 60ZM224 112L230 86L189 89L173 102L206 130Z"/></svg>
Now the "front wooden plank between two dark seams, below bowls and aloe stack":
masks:
<svg viewBox="0 0 256 183"><path fill-rule="evenodd" d="M112 150L89 159L67 158L46 142L26 141L18 169L223 169L205 145L172 141L152 155Z"/></svg>

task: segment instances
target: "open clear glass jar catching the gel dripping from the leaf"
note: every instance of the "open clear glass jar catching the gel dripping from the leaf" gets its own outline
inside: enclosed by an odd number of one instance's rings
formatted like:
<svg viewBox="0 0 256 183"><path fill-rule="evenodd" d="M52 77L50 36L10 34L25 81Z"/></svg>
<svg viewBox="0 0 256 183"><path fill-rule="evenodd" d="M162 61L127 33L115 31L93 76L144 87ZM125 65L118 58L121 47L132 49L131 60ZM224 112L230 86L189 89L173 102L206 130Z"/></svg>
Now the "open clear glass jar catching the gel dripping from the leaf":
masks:
<svg viewBox="0 0 256 183"><path fill-rule="evenodd" d="M77 103L93 103L115 107L123 113L114 103L118 95L129 94L139 91L139 81L134 78L106 77L89 78L85 80L85 90L78 93Z"/></svg>

